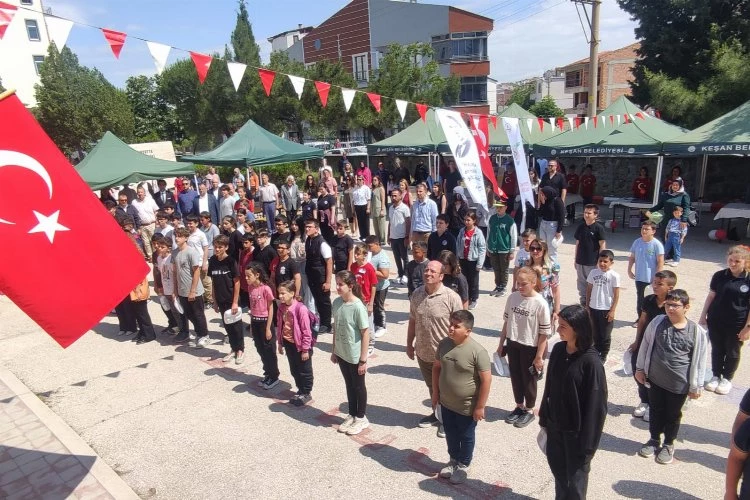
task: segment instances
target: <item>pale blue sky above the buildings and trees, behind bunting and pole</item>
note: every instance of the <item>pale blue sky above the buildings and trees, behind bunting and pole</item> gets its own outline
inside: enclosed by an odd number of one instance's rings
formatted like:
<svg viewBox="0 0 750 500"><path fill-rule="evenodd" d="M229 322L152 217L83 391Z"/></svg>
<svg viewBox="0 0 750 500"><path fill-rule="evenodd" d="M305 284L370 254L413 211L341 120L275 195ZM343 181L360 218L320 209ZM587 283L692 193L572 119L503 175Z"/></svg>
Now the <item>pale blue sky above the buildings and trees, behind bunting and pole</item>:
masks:
<svg viewBox="0 0 750 500"><path fill-rule="evenodd" d="M491 17L490 76L513 82L541 76L547 69L587 57L587 35L575 4L569 0L430 0L420 3L455 5ZM295 28L316 26L347 4L345 0L248 0L253 33L268 61L269 36ZM45 0L45 8L73 21L124 31L154 42L202 53L223 53L234 29L236 0ZM580 9L580 7L579 7ZM586 25L586 18L583 17ZM587 26L587 25L586 25ZM600 50L612 50L635 41L635 23L615 0L604 0L600 17ZM588 27L586 27L588 33ZM115 59L101 31L75 25L68 47L81 64L98 68L107 79L124 87L130 76L153 75L155 67L146 44L128 39ZM189 57L172 50L169 63Z"/></svg>

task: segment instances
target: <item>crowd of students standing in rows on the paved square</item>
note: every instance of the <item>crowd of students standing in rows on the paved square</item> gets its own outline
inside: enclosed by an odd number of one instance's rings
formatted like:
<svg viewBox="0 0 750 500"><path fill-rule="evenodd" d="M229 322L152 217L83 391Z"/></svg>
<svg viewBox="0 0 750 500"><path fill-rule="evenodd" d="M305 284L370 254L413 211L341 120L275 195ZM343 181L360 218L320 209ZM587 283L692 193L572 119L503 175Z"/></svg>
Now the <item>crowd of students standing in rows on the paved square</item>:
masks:
<svg viewBox="0 0 750 500"><path fill-rule="evenodd" d="M550 162L550 166L551 175L541 190L542 206L546 198L560 199L552 187L557 183L555 165ZM344 175L351 170L346 164ZM438 435L447 440L450 462L440 475L459 483L469 474L474 427L484 418L491 380L489 356L470 336L474 317L469 312L477 305L479 276L488 260L494 279L490 295L508 296L496 352L498 359L507 360L515 400L505 421L521 428L538 417L557 497L585 497L590 462L606 418L603 364L614 319L622 317L618 309L622 279L613 252L606 248L604 228L597 222L598 206L584 206L583 221L574 233L579 304L563 307L570 297L563 299L559 286L556 249L562 242L562 222L547 221L541 210L539 232L526 228L519 245L508 200L492 200L494 213L486 217L468 208L460 186L442 191L437 183L432 190L424 183L416 186L409 205L404 201L408 186L394 187L386 197L380 171L369 176L362 168L352 172L351 218L345 211L347 217L337 217L341 213L335 198L338 183L326 168L319 181L308 176L294 195L298 205L273 201L271 210L265 206L270 202L261 198L267 219L261 227L253 222L249 203L242 197L220 221L208 211L179 212L182 193L175 202L166 200L154 213L149 235L152 254L144 252L154 265L154 289L167 318L163 333L175 335L175 342L204 347L209 341L205 309L213 308L222 317L230 345L223 362L243 363L244 337L249 332L262 362L263 379L258 384L270 390L279 383L277 354L286 355L297 387L290 403L299 406L311 400L317 338L332 333L331 361L341 370L348 400L348 416L338 430L355 435L369 426L367 364L376 339L387 334L389 289L406 285L409 298L421 303L425 290L429 294L435 289L439 273L440 284L455 295L460 308L446 313L434 333L434 360L423 376L426 382L431 377L433 408L440 411L425 422L432 425L441 419ZM259 191L267 184L264 181ZM219 189L229 191L226 185ZM139 198L142 190L139 187ZM291 195L291 186L287 192ZM153 197L166 198L160 192ZM122 206L107 205L143 249L142 233L124 201ZM352 219L357 221L356 230ZM663 269L665 248L656 232L657 225L645 220L640 238L630 248L627 273L636 284L637 308L628 364L640 399L633 415L649 422L649 439L638 453L667 464L674 456L686 399L700 397L704 389L720 395L731 389L742 344L750 338L750 250L742 246L729 250L728 268L713 276L696 323L687 319L690 298L676 288L676 274ZM670 234L668 229L667 242L673 239ZM393 279L391 258L382 247L386 243L396 261ZM674 258L679 261L679 249ZM431 269L432 263L437 268ZM337 297L331 302L334 284ZM648 286L653 294L646 296ZM116 309L120 334L135 334L138 344L156 337L148 298L147 292L136 289ZM248 325L243 311L248 313ZM551 340L559 340L558 345ZM709 344L713 378L704 383ZM537 409L537 384L547 358L547 383Z"/></svg>

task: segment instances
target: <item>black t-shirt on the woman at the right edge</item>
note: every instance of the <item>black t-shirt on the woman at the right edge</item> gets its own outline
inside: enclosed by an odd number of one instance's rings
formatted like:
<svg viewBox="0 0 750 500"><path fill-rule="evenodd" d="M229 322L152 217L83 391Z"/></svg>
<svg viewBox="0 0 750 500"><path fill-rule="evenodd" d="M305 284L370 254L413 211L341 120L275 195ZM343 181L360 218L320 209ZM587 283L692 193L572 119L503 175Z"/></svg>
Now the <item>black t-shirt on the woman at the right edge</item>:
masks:
<svg viewBox="0 0 750 500"><path fill-rule="evenodd" d="M750 306L750 275L734 277L729 269L714 273L711 291L716 293L708 309L708 322L727 328L742 328Z"/></svg>

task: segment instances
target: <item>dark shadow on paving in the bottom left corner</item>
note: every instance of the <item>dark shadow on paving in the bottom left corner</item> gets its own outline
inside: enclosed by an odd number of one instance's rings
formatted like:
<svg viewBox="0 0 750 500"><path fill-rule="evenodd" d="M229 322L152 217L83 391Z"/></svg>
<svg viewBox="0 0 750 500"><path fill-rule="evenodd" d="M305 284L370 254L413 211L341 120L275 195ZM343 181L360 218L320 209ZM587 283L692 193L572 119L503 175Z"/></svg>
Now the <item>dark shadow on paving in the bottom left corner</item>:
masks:
<svg viewBox="0 0 750 500"><path fill-rule="evenodd" d="M96 457L0 446L0 497L67 498L73 494ZM105 493L98 483L75 491L75 498Z"/></svg>

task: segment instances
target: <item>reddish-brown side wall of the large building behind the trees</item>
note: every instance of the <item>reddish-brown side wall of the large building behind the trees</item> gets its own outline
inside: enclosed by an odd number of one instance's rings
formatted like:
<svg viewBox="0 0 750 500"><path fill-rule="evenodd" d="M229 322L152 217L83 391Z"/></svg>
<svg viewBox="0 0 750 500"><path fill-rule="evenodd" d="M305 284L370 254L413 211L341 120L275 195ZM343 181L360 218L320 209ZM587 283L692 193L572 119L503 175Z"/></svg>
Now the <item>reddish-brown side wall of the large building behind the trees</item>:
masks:
<svg viewBox="0 0 750 500"><path fill-rule="evenodd" d="M352 0L302 39L305 64L339 60L353 70L352 56L366 53L371 67L368 0Z"/></svg>

